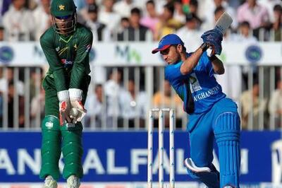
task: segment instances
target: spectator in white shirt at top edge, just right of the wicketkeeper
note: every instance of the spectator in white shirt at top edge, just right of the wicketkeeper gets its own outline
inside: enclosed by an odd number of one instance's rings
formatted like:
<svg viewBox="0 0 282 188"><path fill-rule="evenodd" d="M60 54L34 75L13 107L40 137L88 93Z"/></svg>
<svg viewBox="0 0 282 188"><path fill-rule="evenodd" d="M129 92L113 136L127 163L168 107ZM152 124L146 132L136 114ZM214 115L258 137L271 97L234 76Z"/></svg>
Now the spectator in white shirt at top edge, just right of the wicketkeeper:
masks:
<svg viewBox="0 0 282 188"><path fill-rule="evenodd" d="M114 0L104 0L104 7L99 11L99 22L104 23L111 32L116 30L121 16L113 10Z"/></svg>

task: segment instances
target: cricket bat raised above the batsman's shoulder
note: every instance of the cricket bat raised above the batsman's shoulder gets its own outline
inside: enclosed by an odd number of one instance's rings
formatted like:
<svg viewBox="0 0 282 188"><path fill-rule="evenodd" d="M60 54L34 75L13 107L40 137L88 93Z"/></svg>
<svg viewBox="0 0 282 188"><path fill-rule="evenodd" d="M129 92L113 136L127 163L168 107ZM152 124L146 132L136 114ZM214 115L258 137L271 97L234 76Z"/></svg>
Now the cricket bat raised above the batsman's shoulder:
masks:
<svg viewBox="0 0 282 188"><path fill-rule="evenodd" d="M224 12L219 20L216 21L216 25L214 26L214 29L217 29L220 31L222 35L226 32L226 30L229 28L231 23L233 22L233 19L231 16ZM207 49L207 56L211 57L212 56L212 48Z"/></svg>

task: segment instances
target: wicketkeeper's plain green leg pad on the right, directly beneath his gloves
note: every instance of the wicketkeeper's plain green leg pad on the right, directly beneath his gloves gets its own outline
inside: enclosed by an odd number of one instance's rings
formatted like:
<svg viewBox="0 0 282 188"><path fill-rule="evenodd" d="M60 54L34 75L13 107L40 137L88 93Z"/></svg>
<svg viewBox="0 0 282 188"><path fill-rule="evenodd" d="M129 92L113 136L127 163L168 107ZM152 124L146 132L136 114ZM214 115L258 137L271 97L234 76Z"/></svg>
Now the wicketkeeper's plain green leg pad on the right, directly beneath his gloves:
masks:
<svg viewBox="0 0 282 188"><path fill-rule="evenodd" d="M81 178L82 170L82 130L62 131L63 134L63 159L65 166L63 168L63 178L67 179L71 175Z"/></svg>

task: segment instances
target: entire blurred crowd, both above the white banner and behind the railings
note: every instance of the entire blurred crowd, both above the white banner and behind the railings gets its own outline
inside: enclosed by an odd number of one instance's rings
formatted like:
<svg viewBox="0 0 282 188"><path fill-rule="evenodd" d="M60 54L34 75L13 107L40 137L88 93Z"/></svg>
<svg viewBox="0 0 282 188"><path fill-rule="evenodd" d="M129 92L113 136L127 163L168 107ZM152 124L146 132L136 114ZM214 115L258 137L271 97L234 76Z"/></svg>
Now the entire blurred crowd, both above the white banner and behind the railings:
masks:
<svg viewBox="0 0 282 188"><path fill-rule="evenodd" d="M103 41L157 41L168 33L178 34L188 52L200 46L200 36L214 23L224 11L233 17L231 30L224 36L225 41L257 42L282 40L282 1L281 0L76 0L78 21L89 27L94 34L94 42ZM51 25L49 13L50 0L0 0L0 41L37 41L44 30ZM253 83L248 86L248 73L252 69ZM226 67L225 74L232 78L217 78L223 91L238 102L242 118L242 128L248 128L250 114L254 125L259 124L259 115L266 122L262 127L282 128L282 82L281 67L275 68L275 90L269 90L267 98L259 98L257 67ZM182 102L171 90L169 83L159 81L163 87L154 87L152 98L145 91L144 70L141 69L140 81L134 74L124 79L124 70L106 70L105 81L90 87L85 107L85 127L103 128L102 124L112 127L145 127L148 107L167 107L173 105L177 119L185 116ZM132 71L134 72L134 71ZM154 69L154 72L157 72ZM0 71L0 116L3 117L4 93L8 96L8 127L13 127L14 97L18 95L19 127L25 125L25 102L30 102L30 127L39 127L35 118L40 112L44 116L44 90L35 93L35 82L44 74L30 72L30 96L23 96L23 76L15 83L14 71ZM23 75L23 68L20 68ZM236 76L237 74L237 76ZM20 74L19 74L20 75ZM157 74L156 74L157 75ZM39 76L39 77L38 77ZM95 75L94 75L95 76ZM233 79L242 78L238 81ZM228 82L226 82L228 81ZM137 84L137 86L136 86ZM15 95L15 87L17 93ZM229 88L228 88L229 87ZM240 89L239 89L240 88ZM233 90L233 91L231 91ZM267 91L266 91L267 92ZM252 100L252 102L250 102ZM41 105L38 105L41 104ZM186 121L182 119L181 121ZM2 119L1 121L2 122ZM177 123L181 127L182 122ZM0 123L0 125L2 125ZM249 126L250 128L250 126ZM252 127L259 129L259 127Z"/></svg>

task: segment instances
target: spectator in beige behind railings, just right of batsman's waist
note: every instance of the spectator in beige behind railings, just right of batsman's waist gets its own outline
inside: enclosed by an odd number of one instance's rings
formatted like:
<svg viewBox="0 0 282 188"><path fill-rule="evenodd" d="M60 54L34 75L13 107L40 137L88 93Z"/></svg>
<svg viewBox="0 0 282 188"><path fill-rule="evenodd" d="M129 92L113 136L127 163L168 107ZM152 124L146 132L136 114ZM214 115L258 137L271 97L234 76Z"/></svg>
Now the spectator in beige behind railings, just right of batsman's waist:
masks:
<svg viewBox="0 0 282 188"><path fill-rule="evenodd" d="M248 126L258 129L259 112L263 112L263 114L266 112L266 100L259 100L259 83L254 81L252 89L242 93L240 103L242 105L242 129L247 129ZM250 118L252 118L252 124L249 122Z"/></svg>

